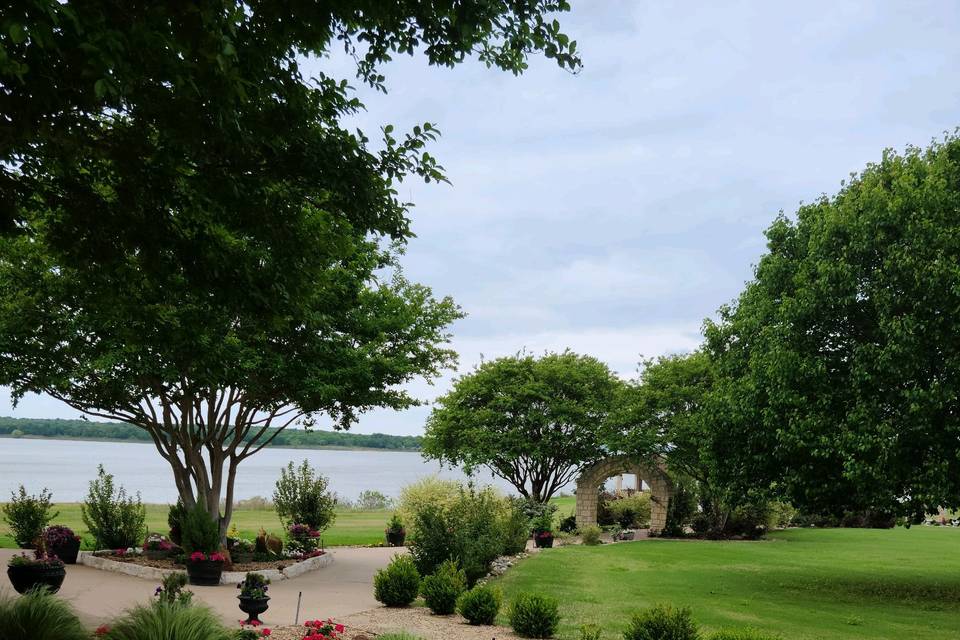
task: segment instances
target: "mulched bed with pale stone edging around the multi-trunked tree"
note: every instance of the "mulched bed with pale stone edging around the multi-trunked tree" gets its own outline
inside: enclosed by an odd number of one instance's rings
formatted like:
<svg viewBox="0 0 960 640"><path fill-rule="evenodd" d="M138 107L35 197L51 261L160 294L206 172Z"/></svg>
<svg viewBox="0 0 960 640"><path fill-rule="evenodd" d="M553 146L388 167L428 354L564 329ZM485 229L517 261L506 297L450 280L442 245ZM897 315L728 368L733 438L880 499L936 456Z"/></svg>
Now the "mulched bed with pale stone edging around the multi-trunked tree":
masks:
<svg viewBox="0 0 960 640"><path fill-rule="evenodd" d="M125 573L130 576L147 580L162 580L164 576L176 572L185 572L186 566L176 564L172 559L150 560L142 555L120 556L114 553L81 551L77 559L79 564L95 569ZM239 584L243 582L248 571L256 571L270 580L287 580L314 571L333 562L333 554L329 551L319 556L305 560L284 558L269 562L234 563L233 570L224 571L220 577L220 584Z"/></svg>

